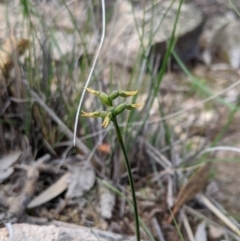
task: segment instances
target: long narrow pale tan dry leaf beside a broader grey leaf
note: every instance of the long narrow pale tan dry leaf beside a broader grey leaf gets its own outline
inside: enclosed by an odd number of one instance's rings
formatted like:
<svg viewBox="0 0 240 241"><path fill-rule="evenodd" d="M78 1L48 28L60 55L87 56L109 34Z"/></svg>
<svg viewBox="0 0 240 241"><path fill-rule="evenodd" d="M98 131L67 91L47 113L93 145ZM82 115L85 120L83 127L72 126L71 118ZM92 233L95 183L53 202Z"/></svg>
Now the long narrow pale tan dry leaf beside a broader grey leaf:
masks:
<svg viewBox="0 0 240 241"><path fill-rule="evenodd" d="M64 174L57 182L55 182L48 189L40 193L37 197L35 197L29 204L28 208L35 208L40 206L53 198L60 195L68 188L68 178L71 174L67 172Z"/></svg>

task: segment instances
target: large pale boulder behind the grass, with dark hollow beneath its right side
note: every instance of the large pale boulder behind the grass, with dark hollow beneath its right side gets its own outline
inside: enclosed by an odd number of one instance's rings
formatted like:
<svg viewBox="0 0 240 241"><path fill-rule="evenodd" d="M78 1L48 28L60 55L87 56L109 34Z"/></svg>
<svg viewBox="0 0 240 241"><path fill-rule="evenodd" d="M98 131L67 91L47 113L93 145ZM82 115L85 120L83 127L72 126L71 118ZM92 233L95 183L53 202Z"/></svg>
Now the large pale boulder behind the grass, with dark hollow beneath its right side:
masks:
<svg viewBox="0 0 240 241"><path fill-rule="evenodd" d="M171 37L178 6L178 1L172 4L169 0L163 0L145 6L143 11L136 7L132 8L129 1L116 1L113 16L116 21L112 21L108 26L108 35L102 50L106 52L105 57L131 69L136 61L141 59L142 50L151 47L148 57L153 60L155 66L155 63L159 63L156 61L161 60L166 52L166 42ZM198 52L195 46L202 24L202 12L193 4L183 3L176 28L176 51L183 61Z"/></svg>

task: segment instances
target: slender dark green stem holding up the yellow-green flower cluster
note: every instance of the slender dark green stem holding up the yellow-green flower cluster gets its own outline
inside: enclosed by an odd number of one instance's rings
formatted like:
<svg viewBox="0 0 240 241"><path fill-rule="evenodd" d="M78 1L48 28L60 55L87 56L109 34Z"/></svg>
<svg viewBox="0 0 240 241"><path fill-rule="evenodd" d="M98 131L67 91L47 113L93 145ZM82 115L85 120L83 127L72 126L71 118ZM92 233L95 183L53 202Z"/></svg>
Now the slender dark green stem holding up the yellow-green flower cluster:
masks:
<svg viewBox="0 0 240 241"><path fill-rule="evenodd" d="M116 118L114 113L112 113L112 114L113 114L112 122L114 124L116 134L117 134L117 139L118 139L118 142L119 142L120 147L122 149L125 164L127 166L128 179L129 179L131 192L132 192L132 199L133 199L134 218L135 218L135 225L136 225L136 236L137 236L137 241L140 241L140 229L139 229L140 225L139 225L139 217L138 217L137 200L136 200L136 195L135 195L135 188L134 188L134 184L133 184L133 177L132 177L130 162L129 162L128 157L127 157L126 148L124 146L121 131L120 131L120 128L119 128L118 123L117 123L117 118Z"/></svg>

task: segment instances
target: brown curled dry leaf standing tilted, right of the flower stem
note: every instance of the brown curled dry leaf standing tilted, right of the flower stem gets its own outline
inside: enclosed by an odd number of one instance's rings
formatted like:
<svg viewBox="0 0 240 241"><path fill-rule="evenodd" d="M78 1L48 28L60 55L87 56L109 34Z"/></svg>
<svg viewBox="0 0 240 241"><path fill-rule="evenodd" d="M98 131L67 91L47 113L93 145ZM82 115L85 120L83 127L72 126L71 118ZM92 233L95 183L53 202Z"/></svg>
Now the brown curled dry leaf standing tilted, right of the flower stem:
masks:
<svg viewBox="0 0 240 241"><path fill-rule="evenodd" d="M182 205L192 198L196 196L199 192L201 192L208 180L208 173L211 164L207 163L204 166L200 167L188 180L187 184L185 184L177 197L176 203L174 205L174 209L172 215L168 219L168 223L172 222L173 216L178 212L178 210L182 207Z"/></svg>

